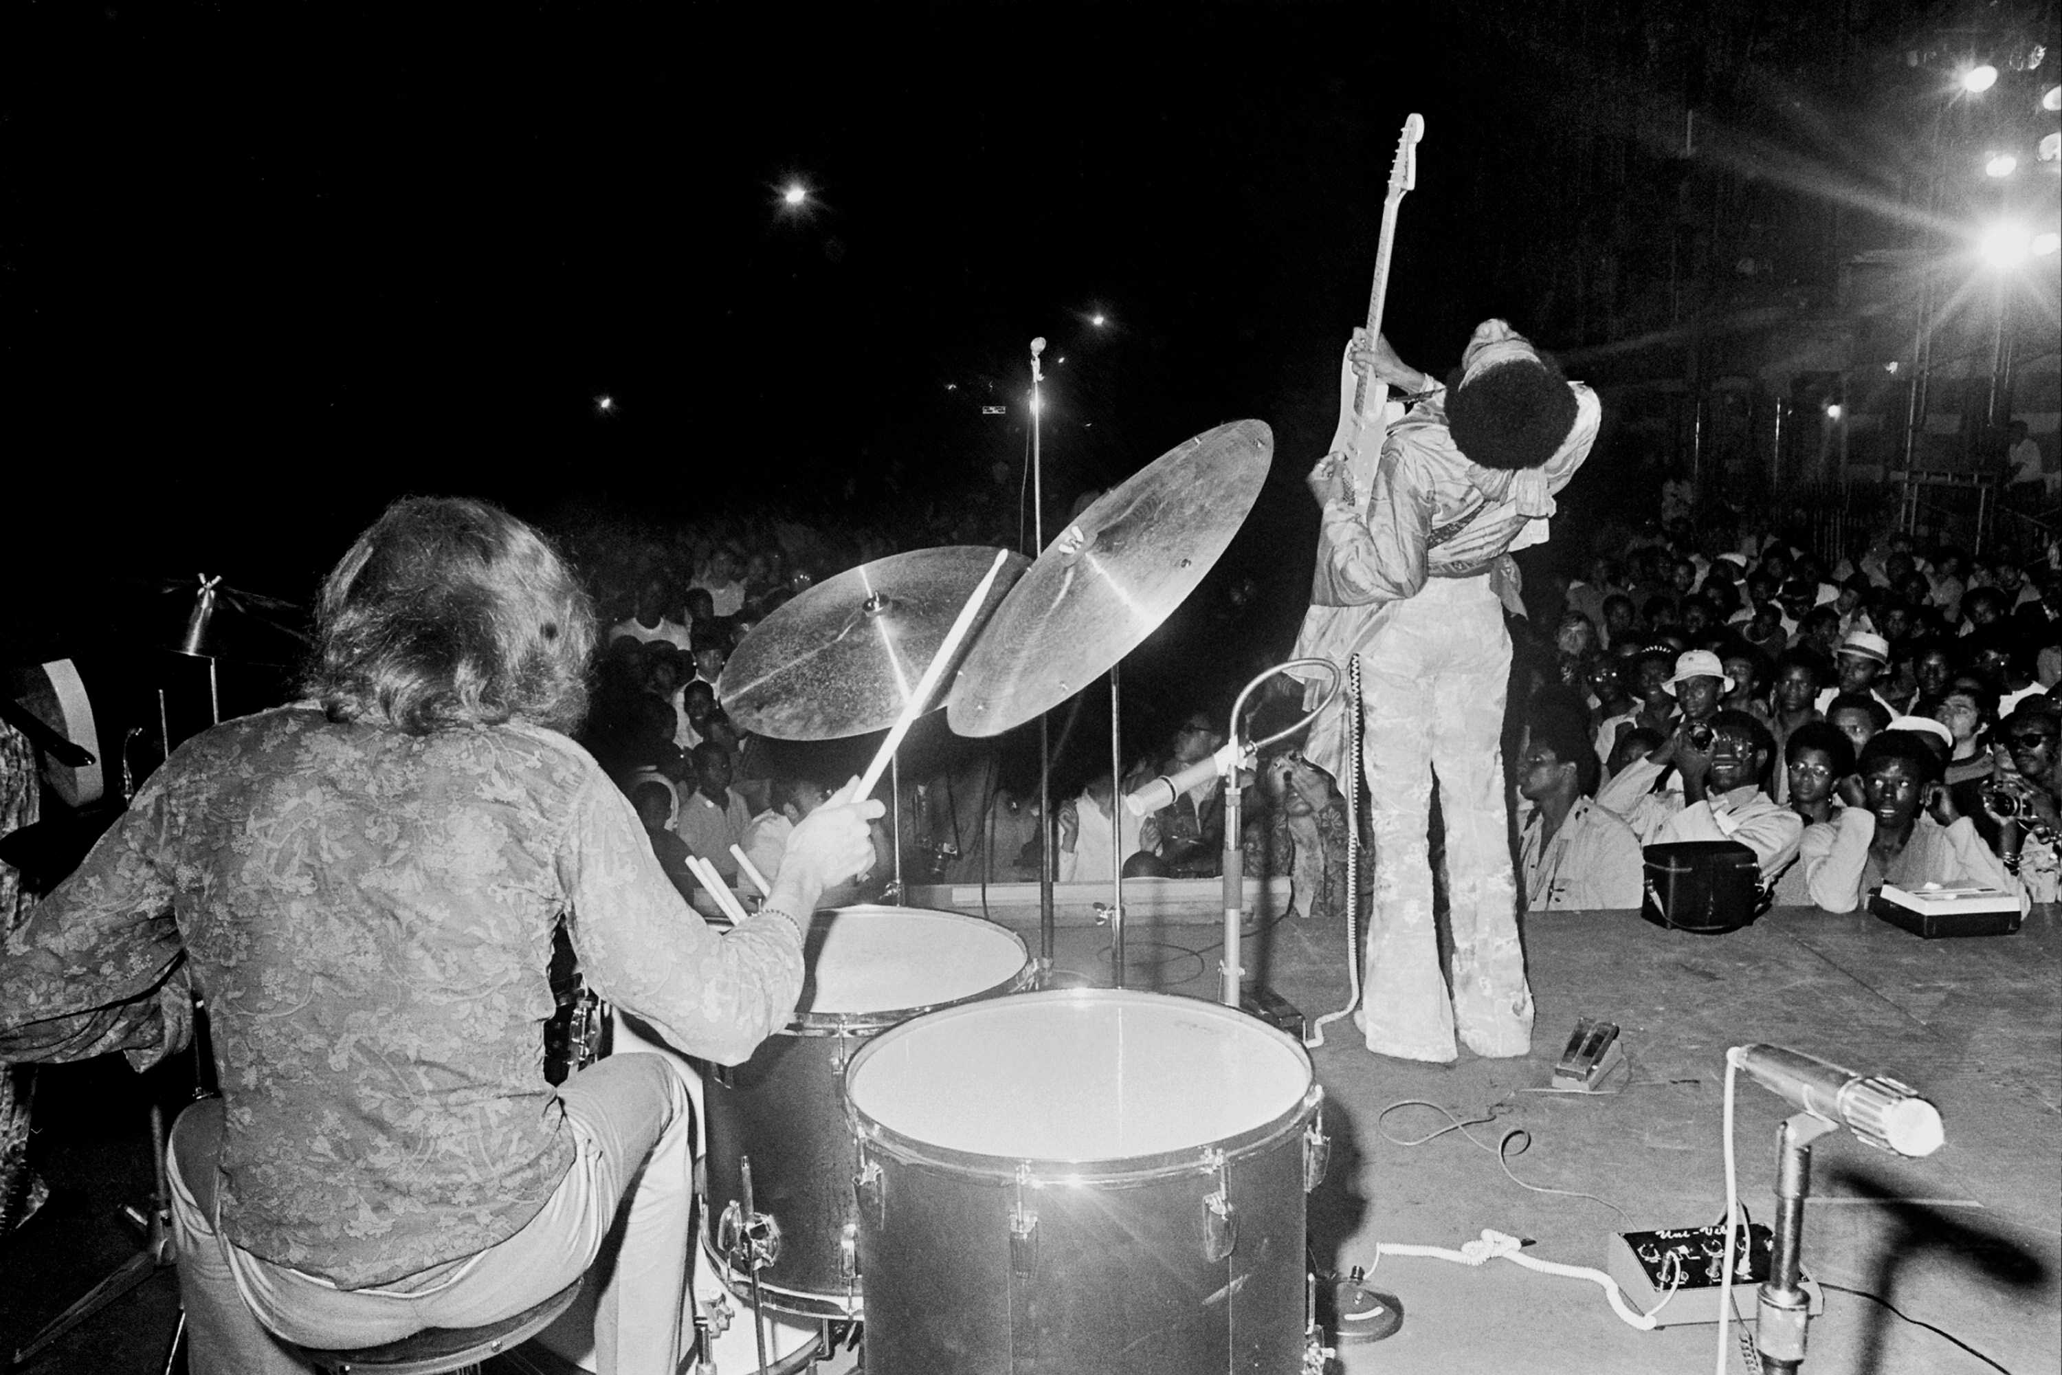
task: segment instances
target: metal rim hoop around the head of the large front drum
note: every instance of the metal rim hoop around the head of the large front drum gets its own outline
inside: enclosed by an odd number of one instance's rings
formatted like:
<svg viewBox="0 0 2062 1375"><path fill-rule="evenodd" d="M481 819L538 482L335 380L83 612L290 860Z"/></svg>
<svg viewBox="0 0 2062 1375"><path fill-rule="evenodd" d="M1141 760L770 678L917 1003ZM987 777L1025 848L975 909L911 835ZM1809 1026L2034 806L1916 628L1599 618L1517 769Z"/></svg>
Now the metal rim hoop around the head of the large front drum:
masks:
<svg viewBox="0 0 2062 1375"><path fill-rule="evenodd" d="M1109 994L1118 990L1052 990L1045 994L1021 994L1021 1000L1037 1002L1107 1002L1109 998L1097 998L1099 994ZM1194 1000L1175 1000L1194 1002ZM979 1014L988 1004L969 1004L965 1008L946 1008L934 1012L928 1020L934 1025L953 1016ZM1219 1004L1204 1004L1219 1006ZM913 1165L920 1169L934 1169L944 1175L955 1175L961 1179L1000 1179L1015 1181L1019 1171L1025 1171L1027 1179L1039 1179L1043 1183L1085 1183L1099 1187L1128 1187L1144 1185L1161 1179L1171 1179L1179 1175L1194 1175L1202 1169L1217 1169L1217 1159L1223 1156L1225 1165L1250 1159L1254 1154L1264 1154L1266 1150L1281 1144L1285 1136L1303 1132L1305 1126L1322 1111L1324 1086L1318 1082L1316 1068L1309 1062L1309 1051L1301 1041L1291 1037L1278 1027L1268 1027L1258 1018L1248 1018L1243 1031L1262 1033L1272 1037L1276 1043L1293 1049L1297 1062L1303 1068L1307 1086L1297 1099L1295 1107L1283 1111L1268 1121L1243 1132L1233 1132L1231 1136L1219 1136L1206 1142L1196 1142L1194 1146L1182 1146L1175 1150L1159 1150L1153 1154L1132 1154L1132 1156L1103 1156L1103 1159L1083 1159L1066 1161L1054 1156L1012 1156L1012 1154L990 1154L984 1150L959 1150L955 1146L940 1146L936 1142L926 1142L905 1132L897 1132L880 1121L874 1121L866 1109L862 1109L852 1095L854 1076L866 1066L874 1051L887 1041L887 1037L874 1037L858 1053L852 1055L852 1064L845 1066L845 1115L852 1121L854 1136L858 1136L862 1150L876 1150L897 1163ZM907 1025L907 1022L905 1022Z"/></svg>

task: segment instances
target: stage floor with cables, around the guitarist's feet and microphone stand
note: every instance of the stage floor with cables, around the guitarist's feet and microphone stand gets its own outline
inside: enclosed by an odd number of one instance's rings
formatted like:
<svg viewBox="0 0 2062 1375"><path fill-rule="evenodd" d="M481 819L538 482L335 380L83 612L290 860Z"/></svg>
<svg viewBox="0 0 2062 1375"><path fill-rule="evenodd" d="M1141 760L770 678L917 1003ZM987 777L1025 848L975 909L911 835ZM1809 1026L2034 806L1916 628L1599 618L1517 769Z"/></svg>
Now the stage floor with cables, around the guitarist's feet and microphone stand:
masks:
<svg viewBox="0 0 2062 1375"><path fill-rule="evenodd" d="M1212 924L1136 919L1128 983L1215 996L1217 934ZM1035 948L1037 932L1025 936ZM1309 1018L1344 1002L1342 921L1287 919L1248 946L1268 985ZM1334 1022L1311 1051L1332 1136L1330 1173L1309 1204L1322 1264L1373 1266L1377 1241L1458 1247L1495 1229L1530 1237L1534 1257L1602 1266L1617 1231L1716 1220L1724 1049L1767 1041L1901 1078L1947 1124L1947 1146L1926 1161L1870 1150L1848 1132L1815 1146L1806 1270L1887 1297L2015 1375L2062 1367L2062 915L2035 909L2017 936L1924 942L1866 913L1775 911L1718 938L1662 932L1633 913L1551 913L1530 919L1526 946L1538 1029L1524 1060L1384 1060L1349 1022ZM1107 983L1107 930L1062 928L1056 965L1074 981ZM1577 1016L1623 1029L1629 1072L1612 1078L1619 1093L1528 1093L1546 1086ZM146 1093L169 1093L171 1082L136 1078L118 1060L47 1074L37 1154L66 1194L0 1243L8 1350L134 1251L113 1210L148 1192ZM1606 1202L1526 1192L1493 1150L1458 1132L1392 1144L1384 1130L1412 1140L1448 1126L1423 1107L1382 1117L1404 1099L1464 1117L1495 1109L1474 1134L1495 1144L1526 1128L1530 1148L1507 1156L1520 1179ZM1775 1128L1788 1107L1742 1080L1736 1109L1740 1198L1771 1220ZM1340 1352L1346 1375L1714 1369L1714 1328L1635 1332L1594 1284L1509 1262L1392 1257L1369 1282L1402 1299L1404 1328ZM1740 1309L1753 1315L1751 1290ZM157 1371L173 1317L167 1272L27 1369ZM1747 1369L1736 1346L1728 1369ZM1868 1299L1829 1290L1804 1369L1994 1367Z"/></svg>

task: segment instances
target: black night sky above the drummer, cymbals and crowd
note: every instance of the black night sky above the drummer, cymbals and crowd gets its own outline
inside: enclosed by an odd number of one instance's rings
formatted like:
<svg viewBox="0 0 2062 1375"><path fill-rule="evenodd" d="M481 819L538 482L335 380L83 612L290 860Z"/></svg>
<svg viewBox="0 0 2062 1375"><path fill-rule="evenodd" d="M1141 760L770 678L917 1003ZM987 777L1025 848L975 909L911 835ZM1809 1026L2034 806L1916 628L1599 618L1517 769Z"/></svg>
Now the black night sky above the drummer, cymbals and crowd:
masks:
<svg viewBox="0 0 2062 1375"><path fill-rule="evenodd" d="M1623 41L1476 0L431 10L10 6L6 443L62 499L31 557L87 528L303 596L406 491L660 515L979 472L1033 334L1062 499L1260 416L1256 522L1295 530L1402 118L1390 332L1445 369L1522 324L1511 245L1575 233L1528 169Z"/></svg>

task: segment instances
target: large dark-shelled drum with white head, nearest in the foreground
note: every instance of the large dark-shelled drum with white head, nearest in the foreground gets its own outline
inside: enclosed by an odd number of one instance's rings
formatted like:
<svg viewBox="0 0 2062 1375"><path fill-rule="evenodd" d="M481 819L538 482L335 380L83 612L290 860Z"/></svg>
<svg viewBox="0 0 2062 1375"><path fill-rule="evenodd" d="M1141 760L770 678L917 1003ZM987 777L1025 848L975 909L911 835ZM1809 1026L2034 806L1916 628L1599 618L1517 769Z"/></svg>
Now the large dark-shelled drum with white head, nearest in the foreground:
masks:
<svg viewBox="0 0 2062 1375"><path fill-rule="evenodd" d="M852 1058L868 1375L1307 1369L1303 1045L1192 998L1064 990Z"/></svg>

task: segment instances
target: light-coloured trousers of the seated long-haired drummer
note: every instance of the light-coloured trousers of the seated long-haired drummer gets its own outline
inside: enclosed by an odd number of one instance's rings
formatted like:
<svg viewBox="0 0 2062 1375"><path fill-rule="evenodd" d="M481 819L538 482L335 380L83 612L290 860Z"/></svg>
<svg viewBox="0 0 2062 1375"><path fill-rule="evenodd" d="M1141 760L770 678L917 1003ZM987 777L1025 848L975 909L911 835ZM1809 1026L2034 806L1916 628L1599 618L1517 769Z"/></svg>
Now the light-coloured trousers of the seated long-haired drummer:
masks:
<svg viewBox="0 0 2062 1375"><path fill-rule="evenodd" d="M476 1328L553 1297L598 1253L614 1266L594 1317L600 1375L680 1365L689 1280L695 1121L672 1055L614 1055L561 1086L577 1154L522 1231L476 1255L377 1288L340 1290L221 1237L181 1175L212 1161L167 1161L179 1301L194 1375L305 1375L272 1332L315 1348L394 1342L423 1328ZM627 1204L619 1210L619 1204ZM270 1332L268 1332L270 1330Z"/></svg>

